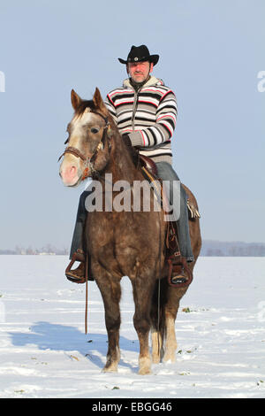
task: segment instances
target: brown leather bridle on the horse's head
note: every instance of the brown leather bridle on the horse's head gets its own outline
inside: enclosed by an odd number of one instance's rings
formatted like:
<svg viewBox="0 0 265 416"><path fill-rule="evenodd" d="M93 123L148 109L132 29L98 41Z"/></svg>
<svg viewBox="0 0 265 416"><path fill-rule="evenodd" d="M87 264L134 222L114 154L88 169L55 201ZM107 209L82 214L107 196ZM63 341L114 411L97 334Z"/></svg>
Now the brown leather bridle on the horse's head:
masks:
<svg viewBox="0 0 265 416"><path fill-rule="evenodd" d="M93 114L96 114L100 117L102 117L102 119L105 121L105 126L103 127L103 133L102 133L102 138L100 143L98 143L95 151L92 153L92 155L86 156L84 155L80 150L78 150L77 148L73 147L73 146L68 146L66 147L66 149L64 150L64 153L60 156L60 158L58 158L58 161L63 158L63 156L66 153L71 153L73 156L75 156L76 158L80 158L81 160L83 160L84 162L84 172L83 172L83 176L81 178L81 181L84 181L85 179L87 179L88 177L88 173L97 173L94 165L95 165L95 159L98 155L99 150L104 149L104 144L106 141L106 136L107 139L110 139L110 121L108 119L108 117L103 116L100 112L93 112ZM64 142L64 144L69 142L69 138ZM109 140L109 150L110 150L110 140Z"/></svg>

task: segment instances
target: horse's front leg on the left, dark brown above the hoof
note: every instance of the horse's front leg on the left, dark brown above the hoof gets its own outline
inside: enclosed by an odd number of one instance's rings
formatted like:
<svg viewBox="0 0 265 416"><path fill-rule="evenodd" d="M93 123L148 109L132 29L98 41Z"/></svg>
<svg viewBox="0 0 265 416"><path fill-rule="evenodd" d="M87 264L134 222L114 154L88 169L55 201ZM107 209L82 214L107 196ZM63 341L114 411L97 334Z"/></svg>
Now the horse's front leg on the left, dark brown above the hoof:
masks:
<svg viewBox="0 0 265 416"><path fill-rule="evenodd" d="M102 293L102 299L105 308L105 323L108 333L109 348L107 353L106 365L103 372L116 372L117 364L120 359L119 351L119 327L120 327L120 310L119 300L121 297L121 288L119 280L110 280L110 275L102 275L97 285Z"/></svg>

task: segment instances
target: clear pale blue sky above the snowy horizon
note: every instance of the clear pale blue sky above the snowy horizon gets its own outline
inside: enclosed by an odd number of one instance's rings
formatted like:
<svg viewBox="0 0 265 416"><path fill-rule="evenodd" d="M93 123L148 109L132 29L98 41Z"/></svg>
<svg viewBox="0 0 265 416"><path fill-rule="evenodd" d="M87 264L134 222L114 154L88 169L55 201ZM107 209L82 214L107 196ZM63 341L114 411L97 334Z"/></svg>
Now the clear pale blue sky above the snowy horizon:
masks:
<svg viewBox="0 0 265 416"><path fill-rule="evenodd" d="M79 201L57 158L71 89L91 98L121 85L133 44L160 61L174 90L174 167L197 196L204 239L265 242L263 0L2 0L1 239L68 248Z"/></svg>

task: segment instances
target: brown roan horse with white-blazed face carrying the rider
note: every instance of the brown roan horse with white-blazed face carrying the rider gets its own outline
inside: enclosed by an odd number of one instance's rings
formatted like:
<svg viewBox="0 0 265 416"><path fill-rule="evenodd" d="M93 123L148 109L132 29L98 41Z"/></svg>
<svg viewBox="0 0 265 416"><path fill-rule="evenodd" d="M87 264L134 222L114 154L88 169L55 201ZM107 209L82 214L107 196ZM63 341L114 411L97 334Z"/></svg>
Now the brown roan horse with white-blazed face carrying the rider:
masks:
<svg viewBox="0 0 265 416"><path fill-rule="evenodd" d="M67 127L68 145L60 166L64 185L77 186L89 176L101 182L104 194L105 173L112 174L114 184L126 181L133 186L133 181L144 181L102 101L100 91L95 89L91 101L82 100L73 90L71 98L74 115ZM185 189L189 200L197 207L193 194ZM117 192L113 192L112 198L115 195ZM153 193L150 193L150 198L154 199ZM109 339L104 372L117 371L120 358L119 301L123 276L128 276L133 285L133 324L140 342L139 374L151 372L150 329L153 362L158 363L162 358L163 361L175 360L175 320L179 300L187 287L173 288L168 284L163 250L166 226L163 210L117 212L104 210L103 206L102 210L87 215L87 252L92 274L102 294ZM189 227L196 261L201 250L199 219L189 220ZM189 264L191 270L195 261Z"/></svg>

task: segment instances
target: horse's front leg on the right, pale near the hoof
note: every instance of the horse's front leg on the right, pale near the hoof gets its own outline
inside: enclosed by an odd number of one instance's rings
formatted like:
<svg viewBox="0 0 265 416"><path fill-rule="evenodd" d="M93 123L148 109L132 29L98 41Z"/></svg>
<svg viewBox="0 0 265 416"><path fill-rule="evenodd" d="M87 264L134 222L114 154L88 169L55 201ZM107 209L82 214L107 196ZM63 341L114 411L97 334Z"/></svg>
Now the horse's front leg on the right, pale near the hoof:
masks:
<svg viewBox="0 0 265 416"><path fill-rule="evenodd" d="M150 306L153 295L154 281L150 277L137 277L133 283L133 298L135 312L133 324L140 343L139 374L151 373L151 357L149 353L148 336L151 327Z"/></svg>

